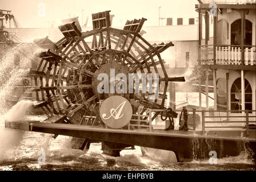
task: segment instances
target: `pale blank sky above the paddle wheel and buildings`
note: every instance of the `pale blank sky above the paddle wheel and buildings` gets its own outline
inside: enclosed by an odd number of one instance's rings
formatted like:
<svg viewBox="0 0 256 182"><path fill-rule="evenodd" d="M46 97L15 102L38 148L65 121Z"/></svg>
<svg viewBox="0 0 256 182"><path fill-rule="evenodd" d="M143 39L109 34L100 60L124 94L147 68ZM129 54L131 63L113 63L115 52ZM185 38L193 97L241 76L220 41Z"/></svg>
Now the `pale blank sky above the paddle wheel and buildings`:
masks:
<svg viewBox="0 0 256 182"><path fill-rule="evenodd" d="M88 17L87 27L92 27L91 14L106 10L115 15L112 26L121 27L127 19L142 17L147 19L144 26L158 26L159 10L162 18L173 18L173 24L177 18L183 18L183 24L187 24L189 18L198 16L195 4L197 0L0 0L0 9L11 10L23 28L46 28L53 22L56 27L62 19L74 16L79 16L82 24L82 12L83 22ZM162 25L166 25L166 19Z"/></svg>

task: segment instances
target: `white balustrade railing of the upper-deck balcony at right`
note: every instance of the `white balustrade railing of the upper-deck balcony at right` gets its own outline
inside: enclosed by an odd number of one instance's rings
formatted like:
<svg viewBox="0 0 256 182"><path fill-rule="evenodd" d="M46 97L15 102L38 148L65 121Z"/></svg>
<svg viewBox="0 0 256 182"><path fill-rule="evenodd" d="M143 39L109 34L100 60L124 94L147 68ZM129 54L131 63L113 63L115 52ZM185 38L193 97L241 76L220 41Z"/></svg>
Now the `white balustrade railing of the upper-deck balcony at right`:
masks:
<svg viewBox="0 0 256 182"><path fill-rule="evenodd" d="M245 46L242 60L241 46L238 45L213 45L199 47L199 64L235 64L235 65L256 65L255 46Z"/></svg>

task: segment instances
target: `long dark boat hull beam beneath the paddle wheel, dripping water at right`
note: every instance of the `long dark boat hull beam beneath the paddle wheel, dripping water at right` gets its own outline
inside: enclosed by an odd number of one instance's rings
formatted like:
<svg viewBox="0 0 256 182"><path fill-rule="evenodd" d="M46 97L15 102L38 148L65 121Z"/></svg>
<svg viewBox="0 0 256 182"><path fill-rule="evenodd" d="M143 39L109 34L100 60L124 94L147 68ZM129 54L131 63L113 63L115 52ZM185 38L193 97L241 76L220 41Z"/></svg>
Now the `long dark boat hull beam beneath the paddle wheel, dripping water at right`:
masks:
<svg viewBox="0 0 256 182"><path fill-rule="evenodd" d="M183 159L209 159L209 153L215 151L217 158L238 156L241 151L251 151L256 159L255 130L250 131L254 138L238 137L241 131L223 131L222 133L200 134L195 131L157 131L106 129L97 126L69 125L43 122L5 122L5 127L87 138L94 141L122 143L173 151L179 162ZM227 134L229 132L230 136ZM214 135L215 134L215 135Z"/></svg>

